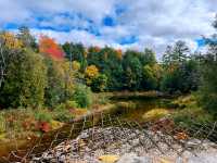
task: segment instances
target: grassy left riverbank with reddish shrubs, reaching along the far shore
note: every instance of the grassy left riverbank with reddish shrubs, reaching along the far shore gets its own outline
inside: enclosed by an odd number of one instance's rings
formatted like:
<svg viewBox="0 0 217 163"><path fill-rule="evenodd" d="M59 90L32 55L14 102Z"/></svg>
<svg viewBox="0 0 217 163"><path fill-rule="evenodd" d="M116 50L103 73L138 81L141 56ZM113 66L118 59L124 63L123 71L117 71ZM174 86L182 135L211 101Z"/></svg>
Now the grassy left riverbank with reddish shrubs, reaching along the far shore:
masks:
<svg viewBox="0 0 217 163"><path fill-rule="evenodd" d="M115 104L112 98L157 98L162 93L149 92L105 92L94 93L90 108L76 108L74 103L61 103L55 109L8 109L0 111L0 141L10 142L11 139L30 139L42 133L51 131L71 123L73 120L102 112ZM127 101L125 101L127 103ZM118 104L117 104L118 105ZM120 104L122 105L122 104ZM119 105L118 105L119 106ZM130 105L129 105L130 108ZM18 116L17 116L18 115Z"/></svg>

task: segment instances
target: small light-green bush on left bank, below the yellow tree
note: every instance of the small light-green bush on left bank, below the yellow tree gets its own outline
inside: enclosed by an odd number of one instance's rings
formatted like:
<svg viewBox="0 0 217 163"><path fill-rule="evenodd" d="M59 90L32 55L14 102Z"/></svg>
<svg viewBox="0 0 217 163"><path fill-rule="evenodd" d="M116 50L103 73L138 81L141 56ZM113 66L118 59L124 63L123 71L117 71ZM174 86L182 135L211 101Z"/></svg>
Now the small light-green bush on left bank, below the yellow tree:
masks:
<svg viewBox="0 0 217 163"><path fill-rule="evenodd" d="M89 87L85 85L77 85L73 95L75 100L80 108L88 108L92 104L92 92Z"/></svg>

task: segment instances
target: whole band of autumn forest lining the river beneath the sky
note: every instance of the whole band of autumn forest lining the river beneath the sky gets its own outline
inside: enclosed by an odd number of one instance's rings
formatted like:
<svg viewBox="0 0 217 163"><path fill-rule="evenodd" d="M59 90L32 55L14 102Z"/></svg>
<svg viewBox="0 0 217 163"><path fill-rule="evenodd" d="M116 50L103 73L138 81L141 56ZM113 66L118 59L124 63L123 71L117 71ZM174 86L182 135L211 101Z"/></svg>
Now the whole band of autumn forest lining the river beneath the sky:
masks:
<svg viewBox="0 0 217 163"><path fill-rule="evenodd" d="M213 26L217 29L217 18ZM2 30L0 136L8 137L5 130L11 126L26 131L33 130L33 126L35 129L37 124L39 130L48 131L97 104L106 103L106 97L97 98L97 102L94 97L108 92L193 96L196 108L203 110L201 116L205 112L208 120L216 120L217 36L203 39L207 47L205 53L191 52L179 40L167 46L157 61L154 50L148 48L123 51L85 47L79 42L59 45L44 35L37 40L25 26L16 34ZM17 114L20 117L14 118ZM186 121L188 113L183 111L179 115Z"/></svg>

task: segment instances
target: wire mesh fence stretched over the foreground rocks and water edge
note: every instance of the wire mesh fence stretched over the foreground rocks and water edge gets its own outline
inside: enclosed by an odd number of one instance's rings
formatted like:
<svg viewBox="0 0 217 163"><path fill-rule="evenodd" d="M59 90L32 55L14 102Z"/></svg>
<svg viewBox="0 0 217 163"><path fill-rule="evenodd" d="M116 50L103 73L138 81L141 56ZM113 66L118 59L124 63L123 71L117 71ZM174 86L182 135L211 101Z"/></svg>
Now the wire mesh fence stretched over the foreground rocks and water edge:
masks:
<svg viewBox="0 0 217 163"><path fill-rule="evenodd" d="M173 121L165 118L140 124L137 121L99 113L74 121L58 130L44 133L25 148L15 146L8 155L1 158L1 162L30 162L34 158L35 162L42 162L41 155L49 152L55 153L50 154L50 159L58 160L60 155L56 155L56 151L60 153L60 150L61 155L72 153L71 158L75 160L85 158L87 153L100 154L100 149L103 149L103 154L141 151L164 154L171 151L181 155L184 151L194 152L192 146L189 146L192 139L200 140L194 145L194 149L202 148L207 140L216 145L217 123L197 124L192 121L191 125L186 127L181 123L175 125ZM116 151L115 146L125 145L129 145L129 148Z"/></svg>

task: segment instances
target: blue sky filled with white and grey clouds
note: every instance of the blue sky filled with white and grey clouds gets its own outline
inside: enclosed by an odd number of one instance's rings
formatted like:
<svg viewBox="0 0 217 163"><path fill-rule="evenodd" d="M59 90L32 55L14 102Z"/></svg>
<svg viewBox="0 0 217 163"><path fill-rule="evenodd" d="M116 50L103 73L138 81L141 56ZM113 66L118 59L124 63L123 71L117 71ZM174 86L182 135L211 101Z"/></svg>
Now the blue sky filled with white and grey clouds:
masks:
<svg viewBox="0 0 217 163"><path fill-rule="evenodd" d="M202 48L202 36L215 33L215 13L217 0L0 0L0 29L25 25L60 43L153 48L161 58L180 39Z"/></svg>

